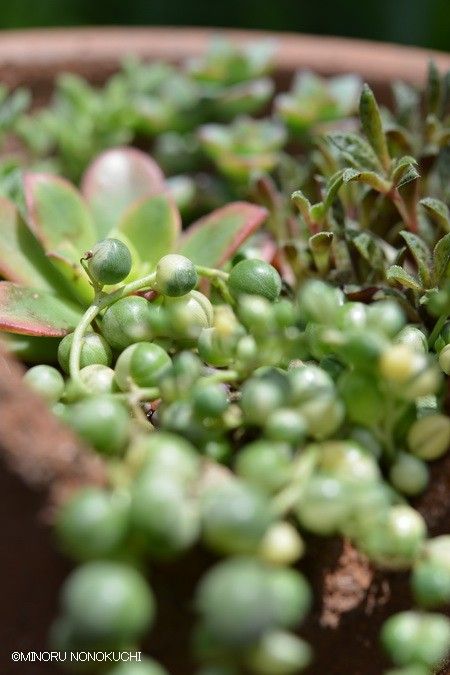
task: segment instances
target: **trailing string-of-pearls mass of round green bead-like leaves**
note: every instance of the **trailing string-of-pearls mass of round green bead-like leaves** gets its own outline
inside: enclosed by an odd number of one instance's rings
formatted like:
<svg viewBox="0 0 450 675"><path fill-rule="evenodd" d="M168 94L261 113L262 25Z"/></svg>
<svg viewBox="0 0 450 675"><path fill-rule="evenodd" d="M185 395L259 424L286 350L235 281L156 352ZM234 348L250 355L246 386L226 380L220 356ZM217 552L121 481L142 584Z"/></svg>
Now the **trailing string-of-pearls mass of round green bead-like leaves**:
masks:
<svg viewBox="0 0 450 675"><path fill-rule="evenodd" d="M96 250L91 278L117 283L107 256L107 273L101 257L94 271ZM349 302L320 281L281 297L278 272L260 260L233 266L227 301L212 305L196 290L199 271L166 256L151 300L106 307L83 337L78 379L49 366L25 376L110 466L108 489L80 490L58 514L61 546L81 567L64 587L56 642L134 644L154 615L137 569L200 542L225 560L195 590L198 658L297 673L311 659L292 632L311 602L290 567L301 531L347 536L375 564L412 568L419 606L448 603L448 537L427 540L407 502L450 442L424 332L392 300ZM66 373L73 339L59 346ZM155 401L150 424L143 404ZM399 614L382 641L397 665L433 668L449 622Z"/></svg>

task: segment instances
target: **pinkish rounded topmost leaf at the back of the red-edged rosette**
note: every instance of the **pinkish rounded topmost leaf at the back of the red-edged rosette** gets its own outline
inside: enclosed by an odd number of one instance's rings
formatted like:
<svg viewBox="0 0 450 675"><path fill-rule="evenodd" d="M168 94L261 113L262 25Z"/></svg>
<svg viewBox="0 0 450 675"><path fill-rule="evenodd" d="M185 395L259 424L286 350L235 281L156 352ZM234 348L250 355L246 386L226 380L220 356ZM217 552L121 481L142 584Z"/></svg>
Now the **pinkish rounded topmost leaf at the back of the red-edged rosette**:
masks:
<svg viewBox="0 0 450 675"><path fill-rule="evenodd" d="M164 175L153 159L134 148L103 152L87 169L81 191L94 214L98 238L117 226L138 199L165 189Z"/></svg>

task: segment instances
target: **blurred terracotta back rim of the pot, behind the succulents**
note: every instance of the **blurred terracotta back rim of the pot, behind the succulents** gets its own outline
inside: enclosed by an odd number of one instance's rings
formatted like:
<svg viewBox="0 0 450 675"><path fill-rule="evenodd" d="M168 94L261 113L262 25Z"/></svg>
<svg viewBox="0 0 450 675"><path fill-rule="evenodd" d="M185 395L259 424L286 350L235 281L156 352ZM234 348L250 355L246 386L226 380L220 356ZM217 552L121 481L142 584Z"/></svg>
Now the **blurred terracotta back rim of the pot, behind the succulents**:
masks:
<svg viewBox="0 0 450 675"><path fill-rule="evenodd" d="M445 52L302 33L194 27L45 28L1 32L0 79L10 86L42 88L58 72L68 70L100 81L127 54L176 62L201 54L217 35L237 43L274 40L275 71L280 76L299 68L322 75L355 72L377 88L395 79L423 82L430 59L439 68L450 68L450 54Z"/></svg>

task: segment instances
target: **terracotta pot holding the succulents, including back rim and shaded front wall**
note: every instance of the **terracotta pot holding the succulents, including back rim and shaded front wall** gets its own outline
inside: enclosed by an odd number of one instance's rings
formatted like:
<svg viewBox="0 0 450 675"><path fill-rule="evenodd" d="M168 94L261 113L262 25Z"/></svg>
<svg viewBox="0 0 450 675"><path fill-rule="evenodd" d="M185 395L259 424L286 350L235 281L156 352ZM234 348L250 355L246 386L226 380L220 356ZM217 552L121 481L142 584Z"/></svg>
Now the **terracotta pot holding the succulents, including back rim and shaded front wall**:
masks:
<svg viewBox="0 0 450 675"><path fill-rule="evenodd" d="M0 81L30 86L39 101L44 101L61 71L101 82L126 54L177 61L202 52L217 32L108 28L4 33L0 39ZM387 99L389 82L394 79L422 82L430 58L440 68L450 68L450 55L414 48L288 33L225 32L239 41L274 37L279 43L276 77L281 84L299 68L325 75L353 71ZM80 483L101 484L104 474L101 462L25 390L20 375L20 365L0 354L0 451L4 460L0 471L0 672L48 675L58 673L57 666L11 661L15 650L45 649L48 626L56 613L58 587L69 569L52 546L45 523L51 504L63 498L67 490ZM436 462L432 474L431 487L417 506L436 534L446 530L450 515L450 458ZM380 675L386 664L377 634L387 615L408 606L405 575L374 573L348 543L338 540L312 540L309 551L302 567L312 579L317 601L301 630L315 648L316 660L308 672ZM191 619L188 593L207 562L206 554L196 553L168 568L155 568L152 573L161 602L151 650L172 675L193 672L187 657Z"/></svg>

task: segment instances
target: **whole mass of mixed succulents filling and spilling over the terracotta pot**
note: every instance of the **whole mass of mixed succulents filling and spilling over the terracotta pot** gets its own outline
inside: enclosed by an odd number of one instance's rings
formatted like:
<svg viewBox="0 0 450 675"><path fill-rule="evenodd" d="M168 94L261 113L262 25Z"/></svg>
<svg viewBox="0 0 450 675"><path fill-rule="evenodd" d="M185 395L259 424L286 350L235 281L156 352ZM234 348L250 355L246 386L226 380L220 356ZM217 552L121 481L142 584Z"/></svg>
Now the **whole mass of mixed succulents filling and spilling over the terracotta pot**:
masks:
<svg viewBox="0 0 450 675"><path fill-rule="evenodd" d="M16 400L2 357L2 444L77 564L50 643L148 645L92 672L445 672L448 78L388 109L354 75L276 93L272 64L218 40L31 112L0 92L0 340L28 366ZM50 425L26 453L23 396Z"/></svg>

